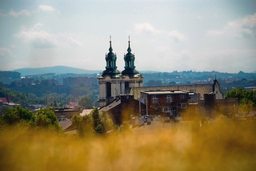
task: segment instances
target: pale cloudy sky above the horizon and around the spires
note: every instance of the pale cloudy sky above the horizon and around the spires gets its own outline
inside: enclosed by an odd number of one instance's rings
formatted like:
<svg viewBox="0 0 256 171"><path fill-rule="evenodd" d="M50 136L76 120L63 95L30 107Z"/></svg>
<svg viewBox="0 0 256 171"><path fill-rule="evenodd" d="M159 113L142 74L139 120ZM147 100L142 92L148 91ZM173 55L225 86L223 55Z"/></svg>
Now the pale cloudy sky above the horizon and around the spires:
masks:
<svg viewBox="0 0 256 171"><path fill-rule="evenodd" d="M109 40L124 70L256 70L255 0L0 0L0 70L105 70Z"/></svg>

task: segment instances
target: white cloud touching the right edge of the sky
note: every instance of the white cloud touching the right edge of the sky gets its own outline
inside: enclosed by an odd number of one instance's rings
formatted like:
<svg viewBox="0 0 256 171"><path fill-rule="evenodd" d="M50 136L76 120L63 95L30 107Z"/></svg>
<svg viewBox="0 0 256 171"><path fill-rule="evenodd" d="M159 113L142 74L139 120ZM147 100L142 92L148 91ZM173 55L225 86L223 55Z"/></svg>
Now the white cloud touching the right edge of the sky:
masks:
<svg viewBox="0 0 256 171"><path fill-rule="evenodd" d="M221 30L208 30L208 36L232 35L235 38L254 37L256 13L228 22Z"/></svg>

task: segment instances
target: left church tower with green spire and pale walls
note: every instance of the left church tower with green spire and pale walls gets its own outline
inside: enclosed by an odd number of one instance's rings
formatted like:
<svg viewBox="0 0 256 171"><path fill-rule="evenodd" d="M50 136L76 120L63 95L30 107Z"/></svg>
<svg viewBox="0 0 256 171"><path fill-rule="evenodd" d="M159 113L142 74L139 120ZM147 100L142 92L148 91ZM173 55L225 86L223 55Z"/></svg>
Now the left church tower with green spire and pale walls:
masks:
<svg viewBox="0 0 256 171"><path fill-rule="evenodd" d="M100 107L113 102L116 96L121 94L122 77L121 72L116 67L116 54L113 53L111 46L111 36L109 43L109 52L105 56L106 70L98 77Z"/></svg>

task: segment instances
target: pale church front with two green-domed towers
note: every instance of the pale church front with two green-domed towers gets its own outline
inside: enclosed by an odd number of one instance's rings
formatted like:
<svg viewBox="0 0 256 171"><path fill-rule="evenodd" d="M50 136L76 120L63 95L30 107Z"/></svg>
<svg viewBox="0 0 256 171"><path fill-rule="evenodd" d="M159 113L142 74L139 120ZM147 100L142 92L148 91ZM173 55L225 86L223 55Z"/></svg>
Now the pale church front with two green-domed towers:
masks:
<svg viewBox="0 0 256 171"><path fill-rule="evenodd" d="M131 53L130 36L127 53L124 55L124 70L120 72L116 66L116 54L113 53L110 36L110 47L106 53L106 67L99 80L99 107L103 107L124 94L125 89L143 86L143 76L135 69L135 55Z"/></svg>

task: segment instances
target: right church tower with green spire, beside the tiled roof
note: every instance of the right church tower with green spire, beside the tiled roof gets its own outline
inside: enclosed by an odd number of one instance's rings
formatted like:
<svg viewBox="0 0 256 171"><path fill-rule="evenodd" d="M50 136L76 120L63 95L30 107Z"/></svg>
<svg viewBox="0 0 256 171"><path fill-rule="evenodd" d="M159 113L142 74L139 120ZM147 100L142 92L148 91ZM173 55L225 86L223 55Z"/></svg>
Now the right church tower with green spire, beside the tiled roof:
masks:
<svg viewBox="0 0 256 171"><path fill-rule="evenodd" d="M130 36L129 36L129 45L127 48L126 54L124 54L124 62L125 62L125 67L124 70L122 71L122 79L123 79L123 84L121 89L126 89L130 87L142 87L143 83L143 76L139 74L139 71L135 69L134 66L134 60L135 60L135 55L134 53L131 53L131 47L130 47Z"/></svg>

